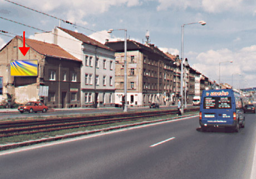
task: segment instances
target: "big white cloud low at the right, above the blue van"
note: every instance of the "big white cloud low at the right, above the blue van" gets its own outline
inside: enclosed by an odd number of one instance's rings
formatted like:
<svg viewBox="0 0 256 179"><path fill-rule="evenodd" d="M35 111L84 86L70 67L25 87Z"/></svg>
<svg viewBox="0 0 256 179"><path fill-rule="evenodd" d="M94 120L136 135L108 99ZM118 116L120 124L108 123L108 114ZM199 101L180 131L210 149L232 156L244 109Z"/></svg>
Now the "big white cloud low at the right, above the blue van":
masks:
<svg viewBox="0 0 256 179"><path fill-rule="evenodd" d="M256 82L252 81L252 79L256 79L255 58L255 45L244 47L235 52L224 48L216 51L209 50L207 52L200 53L195 59L193 59L194 64L190 65L193 65L195 69L215 81L219 81L220 69L221 82L231 84L233 74L233 84L237 85L236 87L238 87L239 80L242 79L247 79L251 82L252 86L256 87ZM229 63L227 61L233 61L233 63ZM240 77L238 74L241 74L242 76ZM242 81L240 83L242 83ZM248 86L248 84L244 85L245 87Z"/></svg>

